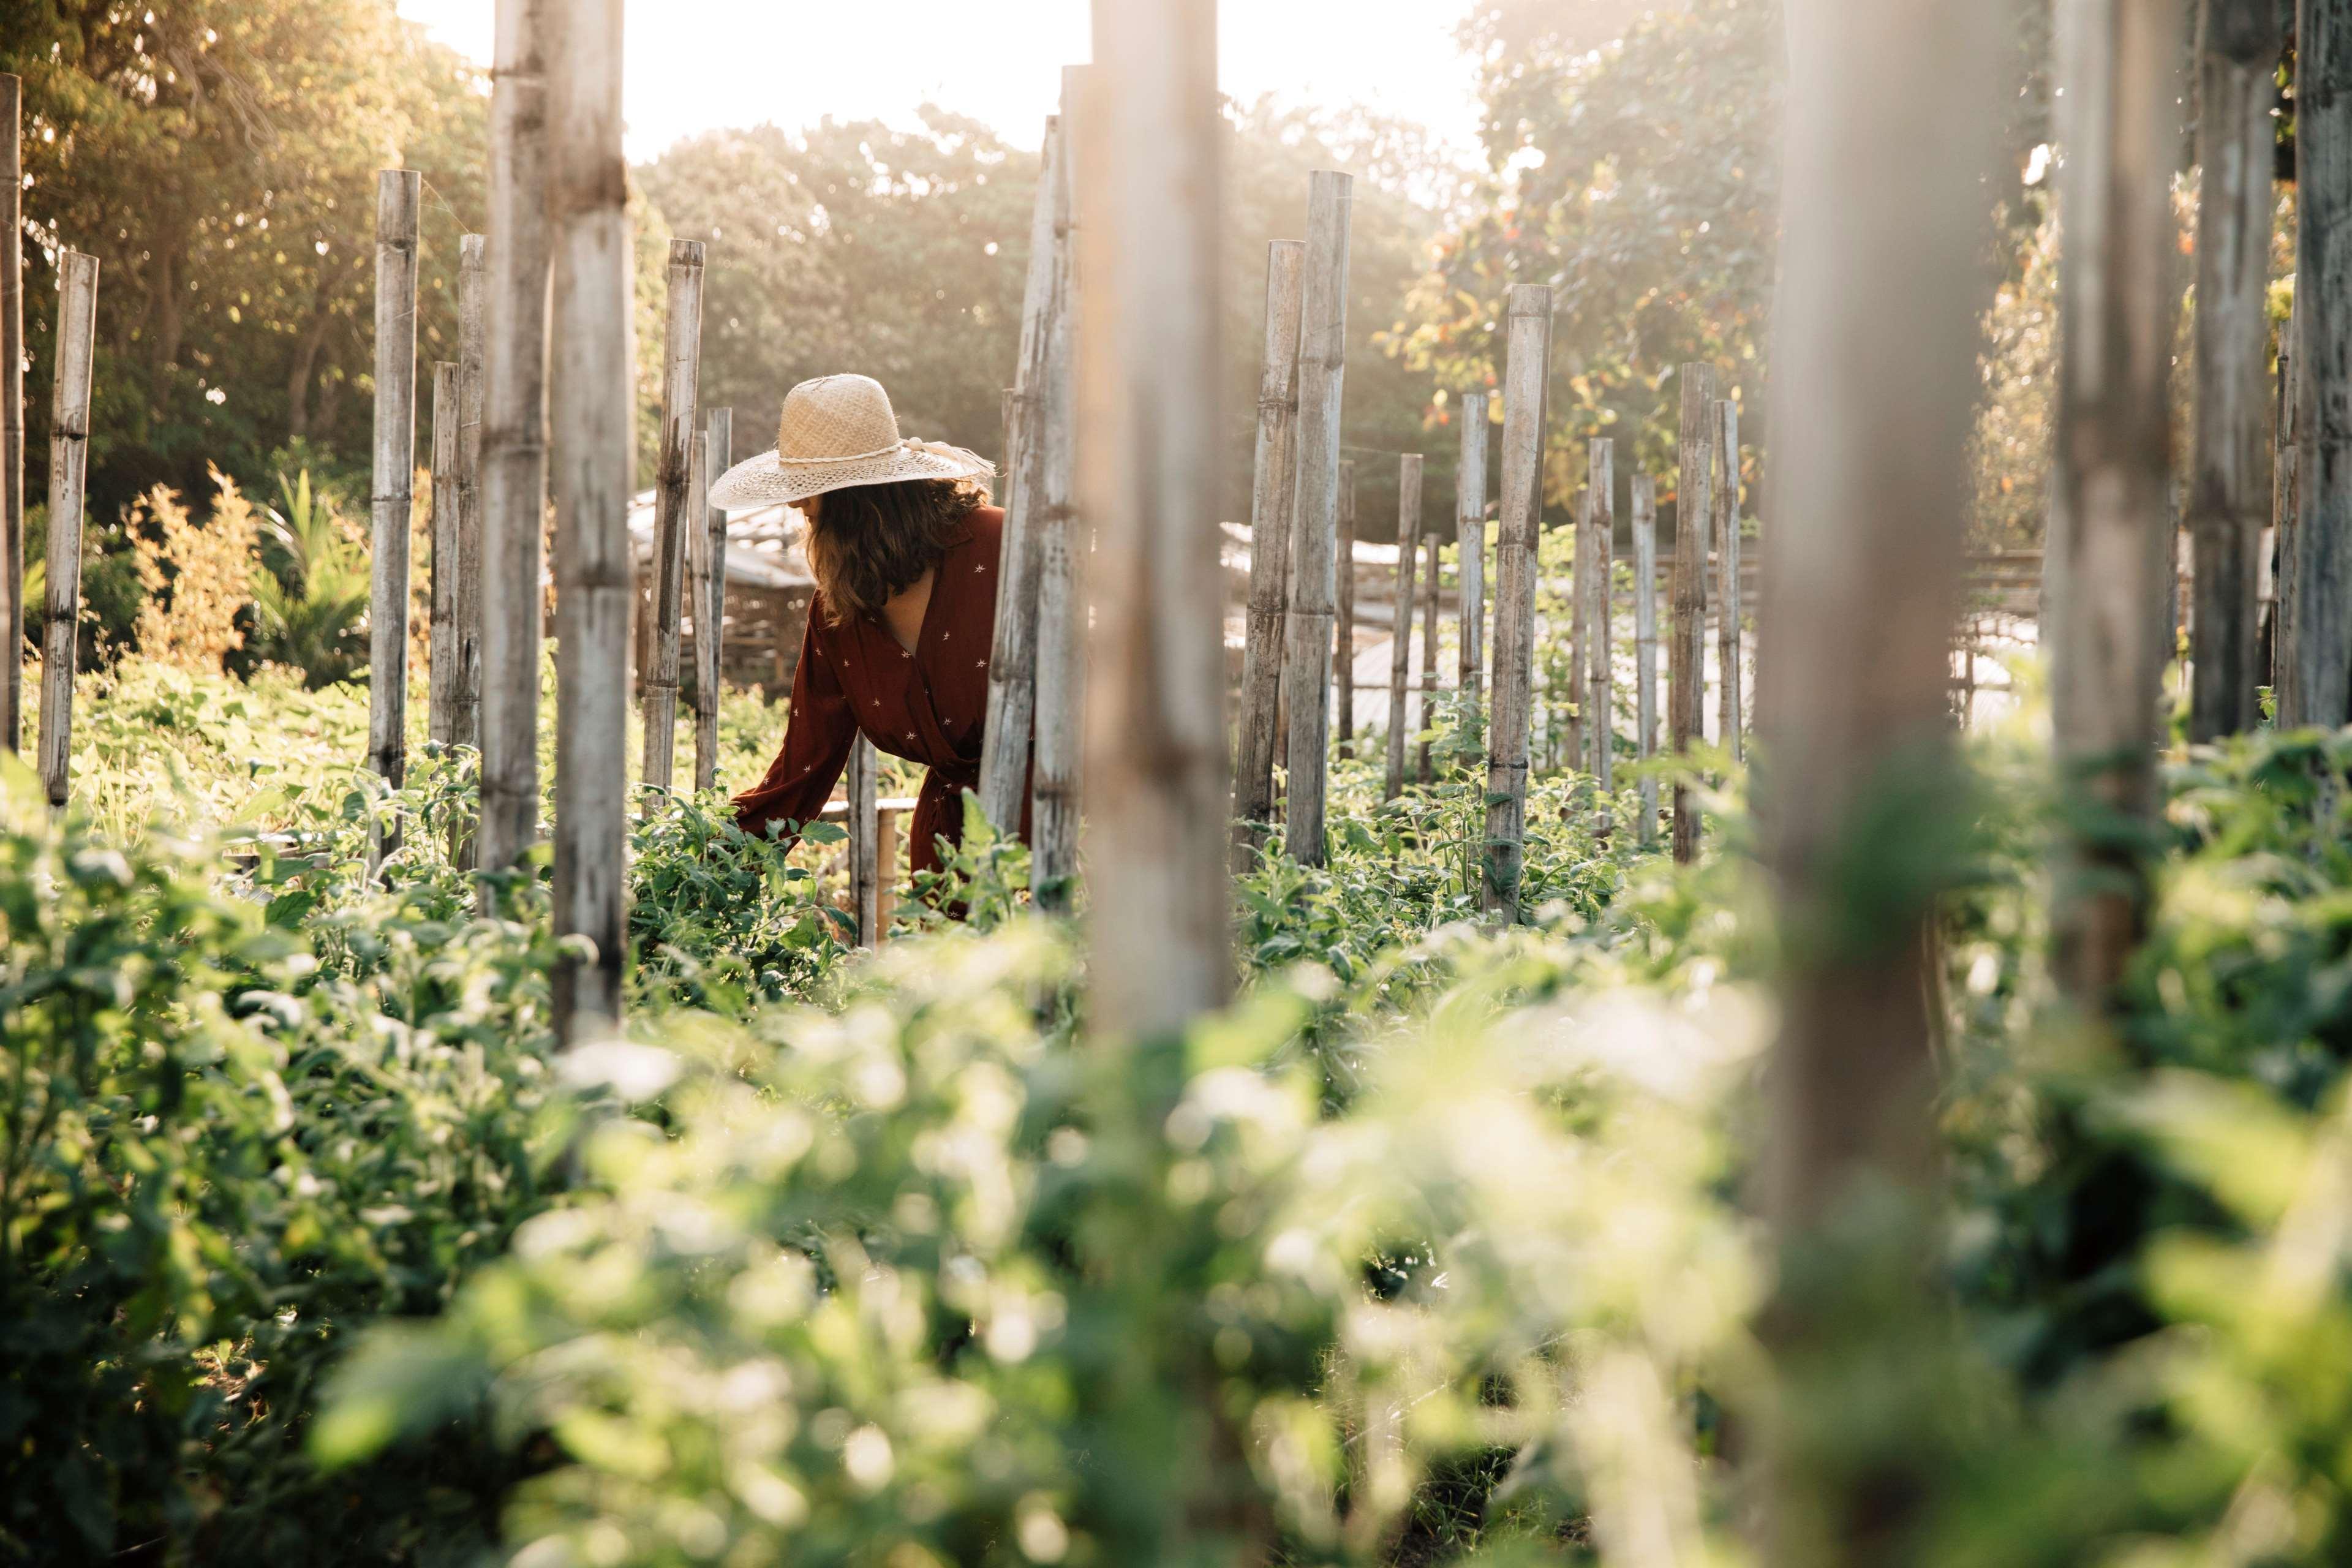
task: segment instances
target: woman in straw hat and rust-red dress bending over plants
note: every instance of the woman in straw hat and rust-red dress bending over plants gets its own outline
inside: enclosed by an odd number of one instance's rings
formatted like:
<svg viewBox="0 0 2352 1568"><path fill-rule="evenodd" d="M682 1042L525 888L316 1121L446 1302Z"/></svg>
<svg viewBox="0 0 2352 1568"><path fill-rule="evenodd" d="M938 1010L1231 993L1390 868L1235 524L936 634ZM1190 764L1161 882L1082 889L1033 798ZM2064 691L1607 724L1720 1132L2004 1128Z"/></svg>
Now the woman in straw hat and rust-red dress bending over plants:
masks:
<svg viewBox="0 0 2352 1568"><path fill-rule="evenodd" d="M960 842L962 792L981 783L997 628L1004 512L988 505L993 473L960 447L898 440L882 383L821 376L783 400L776 451L736 463L710 489L720 508L797 505L816 576L783 750L734 802L743 832L793 842L826 809L863 731L877 750L931 769L908 827L908 870L938 870L936 842Z"/></svg>

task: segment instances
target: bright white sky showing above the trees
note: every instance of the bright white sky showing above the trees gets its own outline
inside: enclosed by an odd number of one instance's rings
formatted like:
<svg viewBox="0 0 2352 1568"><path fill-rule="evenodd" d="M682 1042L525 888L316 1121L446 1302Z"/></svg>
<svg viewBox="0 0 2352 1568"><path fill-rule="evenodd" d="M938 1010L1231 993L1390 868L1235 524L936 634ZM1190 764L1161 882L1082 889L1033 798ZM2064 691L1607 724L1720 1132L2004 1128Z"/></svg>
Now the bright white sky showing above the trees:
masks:
<svg viewBox="0 0 2352 1568"><path fill-rule="evenodd" d="M489 61L494 0L400 0ZM680 136L833 115L908 122L924 101L1035 141L1061 66L1091 56L1087 0L637 0L628 7L628 153ZM1237 0L1223 7L1223 87L1242 101L1367 103L1477 146L1465 0Z"/></svg>

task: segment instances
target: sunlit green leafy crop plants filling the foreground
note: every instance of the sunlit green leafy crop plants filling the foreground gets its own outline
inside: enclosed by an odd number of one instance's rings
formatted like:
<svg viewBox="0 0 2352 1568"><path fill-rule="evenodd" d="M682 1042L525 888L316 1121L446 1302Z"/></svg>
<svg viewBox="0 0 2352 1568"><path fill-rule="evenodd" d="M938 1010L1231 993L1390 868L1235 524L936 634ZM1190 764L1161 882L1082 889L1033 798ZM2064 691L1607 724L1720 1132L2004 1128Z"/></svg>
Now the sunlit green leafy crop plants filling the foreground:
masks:
<svg viewBox="0 0 2352 1568"><path fill-rule="evenodd" d="M1240 879L1244 997L1131 1051L985 837L983 929L851 961L826 846L652 811L630 1037L557 1056L536 875L477 919L440 851L468 757L280 780L216 849L19 778L0 1561L1733 1563L1759 1420L1882 1443L1922 1389L1950 1486L1889 1561L2343 1561L2352 741L2171 769L2098 1034L2042 971L2039 759L1978 743L1945 1312L1799 1408L1736 813L1675 875L1548 778L1543 914L1489 933L1435 741L1385 809L1341 766L1334 865Z"/></svg>

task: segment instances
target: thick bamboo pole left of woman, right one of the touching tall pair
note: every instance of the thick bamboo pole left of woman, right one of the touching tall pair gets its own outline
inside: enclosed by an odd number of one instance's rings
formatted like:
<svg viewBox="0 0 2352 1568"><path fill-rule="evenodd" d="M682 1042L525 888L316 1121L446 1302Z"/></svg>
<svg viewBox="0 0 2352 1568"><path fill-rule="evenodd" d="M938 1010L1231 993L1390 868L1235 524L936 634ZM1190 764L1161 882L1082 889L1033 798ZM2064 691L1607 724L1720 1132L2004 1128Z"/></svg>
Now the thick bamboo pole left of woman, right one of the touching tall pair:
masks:
<svg viewBox="0 0 2352 1568"><path fill-rule="evenodd" d="M548 367L555 473L555 1034L621 1020L628 950L628 559L635 449L621 0L572 0L550 33Z"/></svg>

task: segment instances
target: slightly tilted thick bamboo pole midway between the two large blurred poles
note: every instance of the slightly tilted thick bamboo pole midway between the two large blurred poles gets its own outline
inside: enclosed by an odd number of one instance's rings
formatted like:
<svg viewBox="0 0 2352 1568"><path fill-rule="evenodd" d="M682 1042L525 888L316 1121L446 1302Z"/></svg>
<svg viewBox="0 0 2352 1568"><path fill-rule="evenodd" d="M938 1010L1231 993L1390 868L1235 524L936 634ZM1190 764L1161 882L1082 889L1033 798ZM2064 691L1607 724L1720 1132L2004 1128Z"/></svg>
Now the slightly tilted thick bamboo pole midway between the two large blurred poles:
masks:
<svg viewBox="0 0 2352 1568"><path fill-rule="evenodd" d="M1536 654L1536 543L1543 520L1543 383L1552 362L1552 292L1510 289L1503 362L1503 520L1494 550L1494 722L1486 729L1484 907L1519 919L1526 860L1526 745Z"/></svg>

